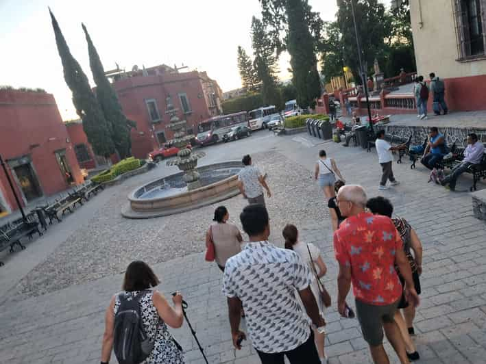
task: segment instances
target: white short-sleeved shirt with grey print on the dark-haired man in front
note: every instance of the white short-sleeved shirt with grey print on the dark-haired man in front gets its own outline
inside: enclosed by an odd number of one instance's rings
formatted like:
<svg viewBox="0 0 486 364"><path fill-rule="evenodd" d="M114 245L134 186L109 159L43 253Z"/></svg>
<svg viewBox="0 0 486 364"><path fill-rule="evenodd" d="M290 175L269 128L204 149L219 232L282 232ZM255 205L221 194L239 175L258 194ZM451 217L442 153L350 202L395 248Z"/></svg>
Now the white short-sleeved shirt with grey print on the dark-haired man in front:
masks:
<svg viewBox="0 0 486 364"><path fill-rule="evenodd" d="M306 313L295 296L311 281L311 270L293 250L251 242L226 261L223 294L241 300L254 348L284 352L311 335Z"/></svg>

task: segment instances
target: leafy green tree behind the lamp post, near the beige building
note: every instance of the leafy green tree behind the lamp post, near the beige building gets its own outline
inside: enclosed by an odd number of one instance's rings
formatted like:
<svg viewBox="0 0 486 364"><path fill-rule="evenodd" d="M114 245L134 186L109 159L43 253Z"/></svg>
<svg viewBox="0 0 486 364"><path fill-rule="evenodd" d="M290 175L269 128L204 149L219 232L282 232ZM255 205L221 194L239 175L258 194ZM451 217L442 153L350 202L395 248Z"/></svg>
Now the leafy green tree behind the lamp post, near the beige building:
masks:
<svg viewBox="0 0 486 364"><path fill-rule="evenodd" d="M354 2L356 27L363 51L361 57L367 66L367 71L372 70L375 58L381 66L385 64L389 51L389 36L392 31L391 17L385 11L385 6L378 3L378 0L338 1L337 26L341 32L343 58L346 65L350 66L354 79L361 83L351 1Z"/></svg>

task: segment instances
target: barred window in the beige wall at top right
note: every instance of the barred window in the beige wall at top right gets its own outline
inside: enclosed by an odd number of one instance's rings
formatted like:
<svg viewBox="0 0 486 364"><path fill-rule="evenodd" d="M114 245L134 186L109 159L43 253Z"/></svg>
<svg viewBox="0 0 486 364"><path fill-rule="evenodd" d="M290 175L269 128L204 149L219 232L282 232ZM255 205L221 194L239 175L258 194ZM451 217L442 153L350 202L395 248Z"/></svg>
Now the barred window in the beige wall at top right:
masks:
<svg viewBox="0 0 486 364"><path fill-rule="evenodd" d="M454 0L459 61L483 58L486 53L486 0Z"/></svg>

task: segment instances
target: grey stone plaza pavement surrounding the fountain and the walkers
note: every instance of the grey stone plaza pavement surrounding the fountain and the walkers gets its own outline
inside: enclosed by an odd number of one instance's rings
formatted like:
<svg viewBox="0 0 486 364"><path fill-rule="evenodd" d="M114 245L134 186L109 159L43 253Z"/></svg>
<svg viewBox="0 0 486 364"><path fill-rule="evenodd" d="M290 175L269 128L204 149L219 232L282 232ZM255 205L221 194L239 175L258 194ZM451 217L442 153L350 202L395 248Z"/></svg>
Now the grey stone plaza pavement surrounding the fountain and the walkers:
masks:
<svg viewBox="0 0 486 364"><path fill-rule="evenodd" d="M275 194L268 200L273 241L281 245L284 223L297 224L301 238L321 248L328 265L326 287L335 298L337 265L330 222L324 200L310 179L320 148L335 157L348 183L360 183L369 196L378 195L380 166L376 153L361 148L323 144L304 134L280 138L260 134L206 151L208 163L221 156L236 158L244 151L260 152L258 164L269 172ZM267 153L262 154L265 149ZM485 363L485 223L472 216L469 193L452 194L426 183L428 173L421 166L410 170L407 161L394 164L393 169L402 184L382 194L391 198L397 215L411 222L424 244L422 304L415 321L421 362ZM259 363L250 343L245 342L241 351L232 349L221 272L204 261L202 233L212 207L146 221L117 217L121 199L146 178L135 177L106 190L106 197L99 196L105 198L106 205L99 203L86 221L66 221L73 224L72 234L49 258L25 274L15 289L3 293L2 299L6 300L0 306L0 363L99 361L104 310L110 296L119 290L120 273L127 262L136 258L153 264L162 280L159 289L166 295L175 289L183 292L190 305L189 320L210 363ZM243 200L236 197L225 204L236 221ZM71 217L75 218L76 213ZM41 239L38 243L47 244ZM26 252L35 244L29 244ZM20 264L21 257L17 255L3 268ZM3 272L11 271L0 270L0 274ZM354 306L352 300L349 303ZM327 311L326 320L330 363L371 362L357 320L339 317L334 307ZM186 351L186 361L203 363L186 324L172 332ZM389 344L386 348L389 354L393 352ZM393 354L391 360L397 362Z"/></svg>

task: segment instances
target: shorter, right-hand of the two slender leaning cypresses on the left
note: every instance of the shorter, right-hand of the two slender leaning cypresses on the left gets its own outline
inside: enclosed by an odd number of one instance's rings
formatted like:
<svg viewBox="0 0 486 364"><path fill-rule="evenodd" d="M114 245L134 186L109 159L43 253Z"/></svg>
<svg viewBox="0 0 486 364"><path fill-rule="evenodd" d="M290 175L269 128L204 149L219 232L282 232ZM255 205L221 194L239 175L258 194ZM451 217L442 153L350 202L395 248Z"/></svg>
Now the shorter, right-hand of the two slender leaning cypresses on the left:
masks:
<svg viewBox="0 0 486 364"><path fill-rule="evenodd" d="M131 139L130 130L135 127L132 120L128 120L121 110L121 105L118 101L117 94L114 92L108 78L105 75L105 70L98 52L93 44L88 31L84 24L82 24L84 34L86 35L86 42L88 42L89 63L93 79L96 83L96 97L101 110L103 110L106 121L111 125L112 140L114 148L121 159L130 156Z"/></svg>

